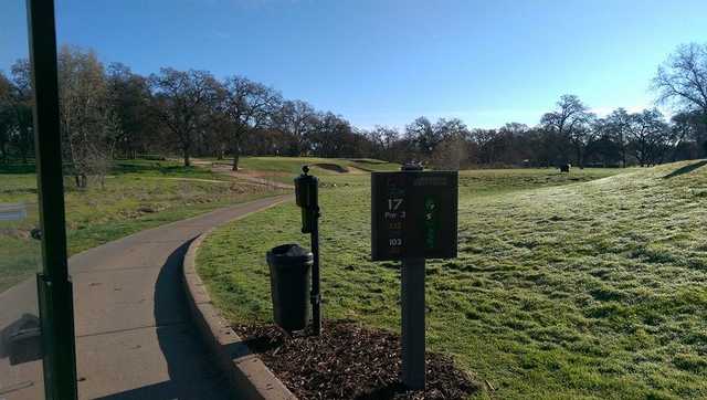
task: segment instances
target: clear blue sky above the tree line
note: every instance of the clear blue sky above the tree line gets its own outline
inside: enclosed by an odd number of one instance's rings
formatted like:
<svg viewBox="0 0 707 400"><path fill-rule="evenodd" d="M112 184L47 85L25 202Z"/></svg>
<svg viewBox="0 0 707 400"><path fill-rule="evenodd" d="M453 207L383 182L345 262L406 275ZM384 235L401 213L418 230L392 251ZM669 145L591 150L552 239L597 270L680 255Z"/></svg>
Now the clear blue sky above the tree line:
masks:
<svg viewBox="0 0 707 400"><path fill-rule="evenodd" d="M705 0L55 0L60 44L135 72L244 75L354 125L419 116L539 123L562 94L599 115L652 107ZM27 57L24 0L0 1L0 70ZM667 110L669 112L669 110Z"/></svg>

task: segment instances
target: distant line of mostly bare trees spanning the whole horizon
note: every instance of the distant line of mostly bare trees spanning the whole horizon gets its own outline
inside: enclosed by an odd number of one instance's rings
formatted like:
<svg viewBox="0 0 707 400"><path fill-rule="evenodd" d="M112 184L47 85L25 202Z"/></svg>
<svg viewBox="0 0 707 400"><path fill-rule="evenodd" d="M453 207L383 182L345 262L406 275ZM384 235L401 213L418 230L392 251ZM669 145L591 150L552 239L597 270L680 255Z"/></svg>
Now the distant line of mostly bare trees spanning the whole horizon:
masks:
<svg viewBox="0 0 707 400"><path fill-rule="evenodd" d="M651 166L707 155L707 44L680 45L658 67L657 108L605 117L563 95L540 124L475 129L457 118L420 117L402 129L360 129L330 112L286 99L272 87L233 75L165 67L144 76L93 51L59 53L60 115L67 175L76 186L103 176L114 158L179 155L373 157L436 168ZM27 60L0 71L0 162L33 157L32 88Z"/></svg>

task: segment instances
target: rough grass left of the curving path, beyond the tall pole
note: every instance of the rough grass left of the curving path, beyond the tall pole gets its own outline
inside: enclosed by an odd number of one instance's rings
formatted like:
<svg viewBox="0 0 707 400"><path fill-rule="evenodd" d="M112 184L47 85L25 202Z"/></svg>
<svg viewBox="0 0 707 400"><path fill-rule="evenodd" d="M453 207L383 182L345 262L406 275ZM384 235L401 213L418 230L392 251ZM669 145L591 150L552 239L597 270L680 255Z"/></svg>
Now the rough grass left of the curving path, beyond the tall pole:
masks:
<svg viewBox="0 0 707 400"><path fill-rule="evenodd" d="M65 182L70 254L108 241L225 207L273 194L272 190L172 161L117 161L105 188L76 190ZM39 271L38 190L33 168L0 167L0 203L24 203L23 221L0 221L0 292Z"/></svg>

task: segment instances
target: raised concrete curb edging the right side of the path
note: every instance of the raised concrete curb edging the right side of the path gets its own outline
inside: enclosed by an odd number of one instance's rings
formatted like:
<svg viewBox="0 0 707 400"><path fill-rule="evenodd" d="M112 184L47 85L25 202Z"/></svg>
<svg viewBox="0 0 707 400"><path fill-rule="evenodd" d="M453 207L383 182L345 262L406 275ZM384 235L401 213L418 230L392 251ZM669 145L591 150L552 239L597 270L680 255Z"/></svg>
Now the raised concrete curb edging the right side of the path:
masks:
<svg viewBox="0 0 707 400"><path fill-rule="evenodd" d="M211 297L196 269L199 246L213 229L202 233L189 245L182 262L183 285L189 310L199 334L218 367L228 377L239 399L296 400L265 364L251 352L247 345L229 326L211 303Z"/></svg>

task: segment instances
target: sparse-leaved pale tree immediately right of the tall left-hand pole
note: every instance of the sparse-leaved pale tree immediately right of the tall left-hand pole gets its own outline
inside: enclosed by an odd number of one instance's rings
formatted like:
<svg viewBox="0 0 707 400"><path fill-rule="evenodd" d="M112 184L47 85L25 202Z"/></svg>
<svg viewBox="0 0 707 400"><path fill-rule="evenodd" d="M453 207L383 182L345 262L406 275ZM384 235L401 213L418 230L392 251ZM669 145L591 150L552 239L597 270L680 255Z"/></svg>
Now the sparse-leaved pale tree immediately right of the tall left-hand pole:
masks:
<svg viewBox="0 0 707 400"><path fill-rule="evenodd" d="M76 187L109 169L119 125L108 99L103 64L93 51L63 46L57 56L60 126L64 160Z"/></svg>

